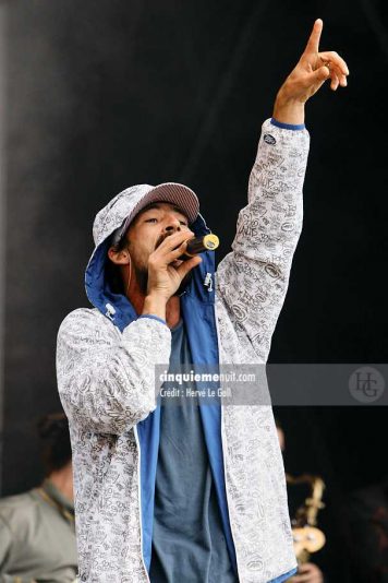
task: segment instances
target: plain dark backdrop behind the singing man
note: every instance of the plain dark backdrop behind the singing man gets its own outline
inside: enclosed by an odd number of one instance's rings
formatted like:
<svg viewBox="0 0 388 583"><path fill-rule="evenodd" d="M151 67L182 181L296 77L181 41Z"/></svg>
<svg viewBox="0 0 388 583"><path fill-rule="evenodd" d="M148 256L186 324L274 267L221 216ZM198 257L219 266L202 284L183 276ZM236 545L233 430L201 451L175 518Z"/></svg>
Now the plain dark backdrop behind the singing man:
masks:
<svg viewBox="0 0 388 583"><path fill-rule="evenodd" d="M35 424L60 408L56 335L69 311L87 306L83 272L96 212L130 185L182 181L220 236L221 259L245 204L260 123L318 16L322 48L340 52L351 74L347 90L324 86L307 105L304 230L270 361L387 361L386 2L3 4L3 495L41 477ZM384 407L276 415L288 471L324 476L326 517L338 515L349 492L386 475Z"/></svg>

